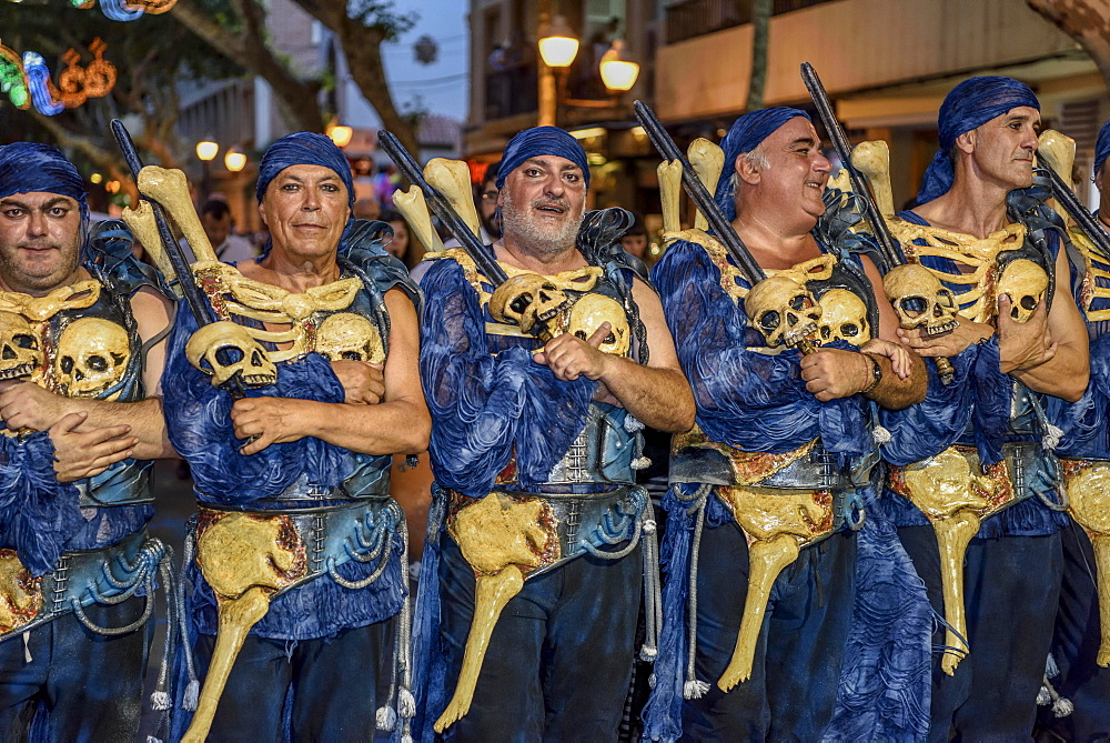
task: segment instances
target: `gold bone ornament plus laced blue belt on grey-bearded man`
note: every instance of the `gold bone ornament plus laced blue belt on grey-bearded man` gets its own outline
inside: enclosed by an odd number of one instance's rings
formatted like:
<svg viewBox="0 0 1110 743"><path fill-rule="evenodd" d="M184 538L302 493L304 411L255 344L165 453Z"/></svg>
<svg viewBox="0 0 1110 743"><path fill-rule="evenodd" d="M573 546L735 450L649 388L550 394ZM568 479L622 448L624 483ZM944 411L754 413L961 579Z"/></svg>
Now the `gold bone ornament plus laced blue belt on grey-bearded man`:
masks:
<svg viewBox="0 0 1110 743"><path fill-rule="evenodd" d="M596 495L528 495L494 491L481 499L452 493L447 533L474 570L474 618L454 694L435 722L442 733L471 709L494 625L505 605L538 575L604 544L639 540L646 494L620 488ZM594 526L594 532L587 533ZM624 552L624 550L620 550Z"/></svg>

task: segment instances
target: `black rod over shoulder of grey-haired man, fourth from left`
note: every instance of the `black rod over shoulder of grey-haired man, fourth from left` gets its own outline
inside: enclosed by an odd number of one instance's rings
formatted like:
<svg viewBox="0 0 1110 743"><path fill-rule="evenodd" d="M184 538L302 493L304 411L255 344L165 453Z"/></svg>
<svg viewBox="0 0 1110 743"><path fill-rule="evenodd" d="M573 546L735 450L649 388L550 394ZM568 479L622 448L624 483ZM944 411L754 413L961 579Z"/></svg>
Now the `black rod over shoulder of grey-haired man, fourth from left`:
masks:
<svg viewBox="0 0 1110 743"><path fill-rule="evenodd" d="M725 219L725 215L717 207L717 202L713 200L713 194L709 193L706 184L698 177L698 171L682 153L678 145L675 144L675 140L670 139L670 134L663 127L663 122L659 121L658 117L655 116L655 111L647 103L636 101L633 107L636 110L636 118L639 120L640 125L644 127L648 139L652 140L652 144L655 145L655 149L663 157L664 161L680 163L683 187L686 189L686 194L694 202L694 205L697 207L698 214L706 220L717 240L728 251L729 257L736 262L745 281L755 288L757 283L767 278L767 274L764 272L763 267L756 262L756 259L751 257L747 245L740 240L740 235L736 234L736 230L733 229L731 223ZM695 148L694 151L698 155L698 164L703 167L702 169L712 174L712 152L706 152L702 148ZM803 339L795 345L804 354L813 353L816 350L814 342L808 339Z"/></svg>

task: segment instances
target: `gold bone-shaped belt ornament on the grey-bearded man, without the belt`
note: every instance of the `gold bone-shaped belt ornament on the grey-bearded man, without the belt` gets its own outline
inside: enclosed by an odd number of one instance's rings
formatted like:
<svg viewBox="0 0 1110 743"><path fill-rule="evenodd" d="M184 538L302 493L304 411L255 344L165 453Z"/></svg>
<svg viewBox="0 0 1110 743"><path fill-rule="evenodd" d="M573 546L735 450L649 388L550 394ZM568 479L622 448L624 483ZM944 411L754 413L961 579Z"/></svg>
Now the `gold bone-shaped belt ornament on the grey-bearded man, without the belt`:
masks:
<svg viewBox="0 0 1110 743"><path fill-rule="evenodd" d="M493 627L524 588L524 576L559 558L558 524L542 498L497 491L477 500L453 494L447 532L474 570L474 618L455 692L435 721L437 733L470 712Z"/></svg>

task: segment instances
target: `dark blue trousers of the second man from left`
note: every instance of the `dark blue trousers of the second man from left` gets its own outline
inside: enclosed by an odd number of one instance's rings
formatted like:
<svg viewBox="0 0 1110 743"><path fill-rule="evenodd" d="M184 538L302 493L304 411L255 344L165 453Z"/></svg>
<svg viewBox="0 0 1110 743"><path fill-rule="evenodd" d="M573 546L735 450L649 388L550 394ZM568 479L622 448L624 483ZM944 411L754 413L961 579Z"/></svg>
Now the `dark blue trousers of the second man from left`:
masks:
<svg viewBox="0 0 1110 743"><path fill-rule="evenodd" d="M391 626L385 620L343 630L330 641L248 635L208 740L372 740L375 683ZM208 667L214 646L215 637L200 636L199 669Z"/></svg>

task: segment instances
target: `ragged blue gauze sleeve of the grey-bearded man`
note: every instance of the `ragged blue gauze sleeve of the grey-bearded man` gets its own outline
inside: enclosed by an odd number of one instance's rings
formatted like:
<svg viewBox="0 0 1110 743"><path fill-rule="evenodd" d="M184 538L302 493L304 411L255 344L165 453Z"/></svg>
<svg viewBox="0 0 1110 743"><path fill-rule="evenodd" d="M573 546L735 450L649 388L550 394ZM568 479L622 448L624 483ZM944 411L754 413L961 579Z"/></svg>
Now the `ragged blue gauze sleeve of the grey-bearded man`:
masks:
<svg viewBox="0 0 1110 743"><path fill-rule="evenodd" d="M421 379L436 482L482 498L514 454L521 486L545 482L585 428L596 382L559 381L524 345L491 354L477 292L455 261L433 263L421 287Z"/></svg>

